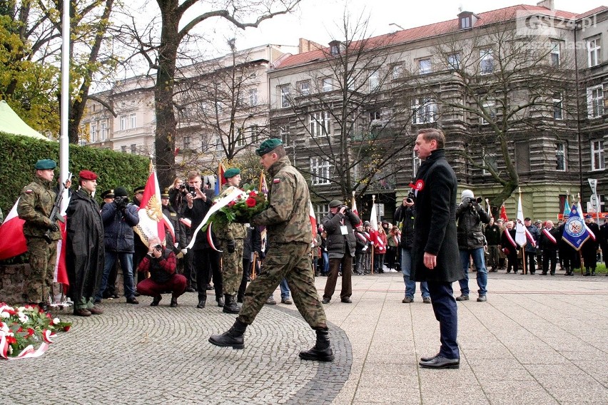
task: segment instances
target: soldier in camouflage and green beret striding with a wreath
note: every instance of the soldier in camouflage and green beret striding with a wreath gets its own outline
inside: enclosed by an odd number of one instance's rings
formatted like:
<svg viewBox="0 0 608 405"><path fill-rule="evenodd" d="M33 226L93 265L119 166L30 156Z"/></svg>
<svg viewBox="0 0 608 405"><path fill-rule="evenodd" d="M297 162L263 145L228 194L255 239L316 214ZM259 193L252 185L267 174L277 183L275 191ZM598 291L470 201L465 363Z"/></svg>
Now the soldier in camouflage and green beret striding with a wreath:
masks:
<svg viewBox="0 0 608 405"><path fill-rule="evenodd" d="M280 139L265 140L255 150L260 163L272 176L268 192L268 209L252 219L252 225L267 227L268 245L263 269L249 284L233 327L213 335L209 342L220 347L243 349L243 334L260 312L266 299L283 277L293 293L295 307L317 333L310 350L300 352L300 359L331 362L334 359L328 337L327 319L315 288L310 266L310 195L302 175L290 163Z"/></svg>

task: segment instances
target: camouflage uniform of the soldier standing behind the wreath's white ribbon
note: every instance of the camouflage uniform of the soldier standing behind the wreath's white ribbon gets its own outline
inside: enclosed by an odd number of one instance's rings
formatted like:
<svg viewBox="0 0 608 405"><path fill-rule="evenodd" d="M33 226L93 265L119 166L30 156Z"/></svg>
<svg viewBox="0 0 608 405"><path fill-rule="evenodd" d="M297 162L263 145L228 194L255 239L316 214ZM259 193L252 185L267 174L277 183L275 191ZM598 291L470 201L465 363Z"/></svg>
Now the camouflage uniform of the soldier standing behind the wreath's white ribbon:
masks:
<svg viewBox="0 0 608 405"><path fill-rule="evenodd" d="M226 191L230 186L223 185L222 191ZM243 239L247 235L245 224L236 222L224 227L214 227L216 237L219 241L219 249L222 250L222 281L223 293L236 295L240 280L243 278ZM228 241L235 241L235 250L228 252Z"/></svg>

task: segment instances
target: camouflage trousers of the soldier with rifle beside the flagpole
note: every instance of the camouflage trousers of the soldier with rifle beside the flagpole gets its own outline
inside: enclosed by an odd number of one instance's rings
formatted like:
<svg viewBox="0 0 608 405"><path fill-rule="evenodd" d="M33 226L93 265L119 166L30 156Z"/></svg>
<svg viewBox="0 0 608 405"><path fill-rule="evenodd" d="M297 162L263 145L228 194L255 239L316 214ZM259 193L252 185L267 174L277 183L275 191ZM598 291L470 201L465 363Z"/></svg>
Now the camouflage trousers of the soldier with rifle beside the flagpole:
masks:
<svg viewBox="0 0 608 405"><path fill-rule="evenodd" d="M57 261L57 241L47 243L42 237L27 237L30 277L24 291L24 302L46 302L53 288Z"/></svg>

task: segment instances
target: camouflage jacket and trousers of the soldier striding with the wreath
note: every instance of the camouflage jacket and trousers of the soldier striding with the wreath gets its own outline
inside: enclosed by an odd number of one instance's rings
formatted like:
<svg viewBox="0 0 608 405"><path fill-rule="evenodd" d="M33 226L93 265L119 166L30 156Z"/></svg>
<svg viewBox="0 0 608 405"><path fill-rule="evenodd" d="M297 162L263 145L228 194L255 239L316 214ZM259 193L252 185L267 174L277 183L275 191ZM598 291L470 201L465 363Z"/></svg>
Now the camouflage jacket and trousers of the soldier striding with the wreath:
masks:
<svg viewBox="0 0 608 405"><path fill-rule="evenodd" d="M298 311L313 329L327 329L325 310L315 288L310 267L310 195L308 185L288 157L277 160L272 176L268 209L253 217L253 225L265 225L269 250L260 275L249 284L238 320L251 324L263 304L285 278Z"/></svg>

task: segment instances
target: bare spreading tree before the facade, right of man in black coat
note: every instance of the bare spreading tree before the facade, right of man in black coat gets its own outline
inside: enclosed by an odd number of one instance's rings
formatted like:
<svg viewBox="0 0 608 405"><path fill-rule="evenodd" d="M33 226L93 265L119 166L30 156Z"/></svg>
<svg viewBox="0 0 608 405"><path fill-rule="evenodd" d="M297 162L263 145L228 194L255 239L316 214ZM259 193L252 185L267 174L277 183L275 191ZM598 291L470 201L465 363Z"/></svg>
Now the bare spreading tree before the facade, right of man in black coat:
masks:
<svg viewBox="0 0 608 405"><path fill-rule="evenodd" d="M437 103L440 125L458 135L450 152L461 159L467 179L470 167L500 185L491 200L495 210L517 190L520 173L534 170L530 142L544 142L554 154L554 141L574 124L569 107L575 108L576 96L568 80L574 54L564 43L557 36L522 35L514 21L460 31L433 48L432 72L411 78L413 93ZM548 156L539 164L551 161ZM555 173L550 165L538 169Z"/></svg>

